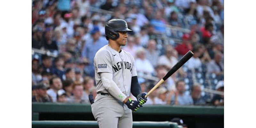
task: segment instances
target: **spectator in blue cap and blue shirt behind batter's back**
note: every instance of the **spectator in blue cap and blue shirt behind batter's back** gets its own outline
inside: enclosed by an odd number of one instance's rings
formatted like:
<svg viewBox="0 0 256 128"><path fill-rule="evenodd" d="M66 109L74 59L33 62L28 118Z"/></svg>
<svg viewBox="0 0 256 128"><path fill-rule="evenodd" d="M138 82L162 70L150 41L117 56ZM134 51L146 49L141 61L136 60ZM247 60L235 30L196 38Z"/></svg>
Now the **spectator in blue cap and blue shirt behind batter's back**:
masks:
<svg viewBox="0 0 256 128"><path fill-rule="evenodd" d="M85 66L85 73L94 77L93 58L101 47L108 44L108 41L100 36L100 29L97 26L93 26L91 36L92 38L85 42L82 50L82 57L89 61L89 64Z"/></svg>

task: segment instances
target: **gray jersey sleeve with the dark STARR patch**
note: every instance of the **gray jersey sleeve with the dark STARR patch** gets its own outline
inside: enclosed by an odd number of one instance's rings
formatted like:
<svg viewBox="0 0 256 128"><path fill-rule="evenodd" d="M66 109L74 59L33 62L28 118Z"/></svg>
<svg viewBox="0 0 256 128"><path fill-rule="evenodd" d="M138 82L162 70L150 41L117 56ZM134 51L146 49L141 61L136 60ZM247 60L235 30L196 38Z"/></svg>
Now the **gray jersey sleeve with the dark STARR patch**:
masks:
<svg viewBox="0 0 256 128"><path fill-rule="evenodd" d="M111 62L111 54L108 51L103 50L97 52L94 57L94 67L97 69L97 73L113 73Z"/></svg>

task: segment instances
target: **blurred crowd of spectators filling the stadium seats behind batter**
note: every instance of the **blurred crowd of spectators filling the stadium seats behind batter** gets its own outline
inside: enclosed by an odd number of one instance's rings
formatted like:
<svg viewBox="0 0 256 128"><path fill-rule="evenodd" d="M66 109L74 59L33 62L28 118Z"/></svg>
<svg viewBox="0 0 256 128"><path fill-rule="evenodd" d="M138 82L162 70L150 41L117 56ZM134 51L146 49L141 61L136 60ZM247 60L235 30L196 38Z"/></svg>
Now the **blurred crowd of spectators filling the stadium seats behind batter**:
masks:
<svg viewBox="0 0 256 128"><path fill-rule="evenodd" d="M124 19L142 92L189 50L194 56L147 104L224 105L224 0L33 0L32 102L89 104L105 23ZM212 91L205 91L210 89Z"/></svg>

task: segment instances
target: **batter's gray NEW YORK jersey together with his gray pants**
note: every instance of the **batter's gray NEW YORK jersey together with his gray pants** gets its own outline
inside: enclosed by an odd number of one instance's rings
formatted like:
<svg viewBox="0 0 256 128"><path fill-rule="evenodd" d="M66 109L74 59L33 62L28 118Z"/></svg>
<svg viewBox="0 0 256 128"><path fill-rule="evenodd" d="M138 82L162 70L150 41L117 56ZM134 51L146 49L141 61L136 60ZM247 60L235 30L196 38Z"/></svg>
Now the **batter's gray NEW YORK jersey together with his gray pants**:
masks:
<svg viewBox="0 0 256 128"><path fill-rule="evenodd" d="M132 76L137 76L134 58L130 53L124 50L117 52L105 45L96 53L94 67L97 92L109 93L99 75L108 72L113 74L113 81L121 92L130 96ZM100 128L132 128L132 110L120 99L99 93L91 107Z"/></svg>

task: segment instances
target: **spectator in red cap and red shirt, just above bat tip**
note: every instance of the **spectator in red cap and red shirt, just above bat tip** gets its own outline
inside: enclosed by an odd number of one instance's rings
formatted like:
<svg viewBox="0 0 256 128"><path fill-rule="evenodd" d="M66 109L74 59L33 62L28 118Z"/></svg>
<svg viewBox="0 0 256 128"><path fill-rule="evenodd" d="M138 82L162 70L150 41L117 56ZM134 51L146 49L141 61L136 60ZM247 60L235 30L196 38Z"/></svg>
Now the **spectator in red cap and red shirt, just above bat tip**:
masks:
<svg viewBox="0 0 256 128"><path fill-rule="evenodd" d="M179 55L185 55L189 50L192 50L193 47L189 41L189 35L184 34L182 36L182 44L179 44L175 47L175 50Z"/></svg>

